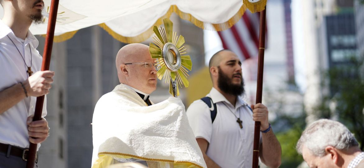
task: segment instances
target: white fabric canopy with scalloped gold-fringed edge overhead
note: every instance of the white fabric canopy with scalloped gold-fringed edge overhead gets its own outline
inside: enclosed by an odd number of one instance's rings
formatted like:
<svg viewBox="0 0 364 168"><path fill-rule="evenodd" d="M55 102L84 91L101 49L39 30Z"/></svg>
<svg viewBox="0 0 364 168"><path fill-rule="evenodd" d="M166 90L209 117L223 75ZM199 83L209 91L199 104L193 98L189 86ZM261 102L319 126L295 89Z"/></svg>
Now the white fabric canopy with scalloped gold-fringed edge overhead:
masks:
<svg viewBox="0 0 364 168"><path fill-rule="evenodd" d="M33 34L46 34L50 4L51 0L44 0L46 18L43 24L30 27ZM119 41L136 43L148 39L152 27L161 25L172 12L202 29L222 31L232 27L247 8L258 12L265 5L266 0L60 0L55 41L100 25Z"/></svg>

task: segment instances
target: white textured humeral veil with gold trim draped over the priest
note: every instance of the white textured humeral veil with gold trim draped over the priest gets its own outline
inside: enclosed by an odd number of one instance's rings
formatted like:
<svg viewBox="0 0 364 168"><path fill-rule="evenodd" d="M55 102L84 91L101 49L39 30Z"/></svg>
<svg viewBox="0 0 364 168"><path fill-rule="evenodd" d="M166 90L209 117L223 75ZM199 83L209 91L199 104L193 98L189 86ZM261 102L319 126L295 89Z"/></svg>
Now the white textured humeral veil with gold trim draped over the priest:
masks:
<svg viewBox="0 0 364 168"><path fill-rule="evenodd" d="M181 99L147 106L127 85L103 95L92 118L92 168L114 160L146 160L149 167L207 167Z"/></svg>

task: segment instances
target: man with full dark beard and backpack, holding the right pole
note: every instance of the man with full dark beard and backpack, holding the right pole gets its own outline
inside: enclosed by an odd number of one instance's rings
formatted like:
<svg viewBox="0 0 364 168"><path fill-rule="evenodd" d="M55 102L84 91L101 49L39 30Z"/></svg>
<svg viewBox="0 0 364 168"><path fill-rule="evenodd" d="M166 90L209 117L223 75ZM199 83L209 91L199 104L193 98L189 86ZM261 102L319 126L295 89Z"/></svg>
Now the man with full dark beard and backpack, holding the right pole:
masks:
<svg viewBox="0 0 364 168"><path fill-rule="evenodd" d="M213 88L187 109L207 167L252 167L254 121L261 122L261 161L268 167L279 167L281 146L268 122L267 107L261 103L249 107L240 97L244 81L238 56L229 50L219 51L211 57L209 68Z"/></svg>

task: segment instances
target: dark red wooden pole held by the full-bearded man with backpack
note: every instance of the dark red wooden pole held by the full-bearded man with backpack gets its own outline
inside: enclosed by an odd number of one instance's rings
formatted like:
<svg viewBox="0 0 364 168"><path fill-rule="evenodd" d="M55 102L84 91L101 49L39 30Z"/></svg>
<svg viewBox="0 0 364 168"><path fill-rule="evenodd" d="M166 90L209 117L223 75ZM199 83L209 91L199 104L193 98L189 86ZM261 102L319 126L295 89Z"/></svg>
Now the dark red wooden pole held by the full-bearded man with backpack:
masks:
<svg viewBox="0 0 364 168"><path fill-rule="evenodd" d="M257 96L255 102L256 104L262 103L264 50L265 50L265 23L266 23L265 10L266 9L260 12ZM259 145L260 145L260 122L256 121L254 126L253 168L258 168Z"/></svg>

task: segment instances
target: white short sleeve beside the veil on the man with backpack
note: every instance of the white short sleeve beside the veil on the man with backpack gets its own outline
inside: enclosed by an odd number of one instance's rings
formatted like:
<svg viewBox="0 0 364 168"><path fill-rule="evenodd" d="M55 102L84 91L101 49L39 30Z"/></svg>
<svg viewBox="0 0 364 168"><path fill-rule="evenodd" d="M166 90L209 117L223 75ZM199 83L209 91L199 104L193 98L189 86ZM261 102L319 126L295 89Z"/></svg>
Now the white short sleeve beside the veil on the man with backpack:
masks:
<svg viewBox="0 0 364 168"><path fill-rule="evenodd" d="M211 141L212 121L211 112L202 100L194 101L186 111L192 131L197 138L203 138L208 143Z"/></svg>

